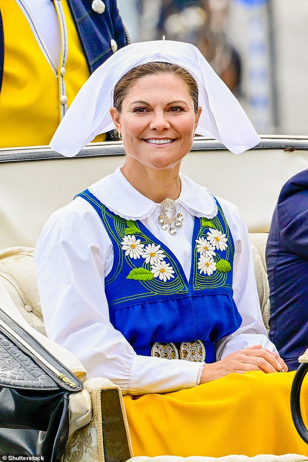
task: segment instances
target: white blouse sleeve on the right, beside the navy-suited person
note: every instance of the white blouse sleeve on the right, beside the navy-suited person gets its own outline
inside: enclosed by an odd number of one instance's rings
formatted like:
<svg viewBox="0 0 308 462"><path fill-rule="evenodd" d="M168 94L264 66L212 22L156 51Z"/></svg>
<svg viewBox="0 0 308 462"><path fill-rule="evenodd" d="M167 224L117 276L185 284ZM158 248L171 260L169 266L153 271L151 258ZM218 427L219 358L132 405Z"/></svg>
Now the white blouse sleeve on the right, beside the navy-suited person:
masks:
<svg viewBox="0 0 308 462"><path fill-rule="evenodd" d="M232 335L218 342L217 360L242 348L257 344L276 352L276 347L269 340L262 319L247 227L235 205L223 199L219 199L219 202L222 205L235 246L233 297L242 317L242 323Z"/></svg>

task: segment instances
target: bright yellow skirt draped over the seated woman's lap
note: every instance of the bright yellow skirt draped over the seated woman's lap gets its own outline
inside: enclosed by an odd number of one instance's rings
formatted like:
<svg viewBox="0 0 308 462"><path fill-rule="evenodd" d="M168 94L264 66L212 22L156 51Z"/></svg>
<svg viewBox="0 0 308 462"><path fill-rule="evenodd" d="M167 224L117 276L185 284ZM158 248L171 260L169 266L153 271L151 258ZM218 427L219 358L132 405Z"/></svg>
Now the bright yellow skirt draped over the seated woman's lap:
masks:
<svg viewBox="0 0 308 462"><path fill-rule="evenodd" d="M124 396L134 456L308 456L291 418L293 377L247 372L164 395ZM307 422L305 381L301 398Z"/></svg>

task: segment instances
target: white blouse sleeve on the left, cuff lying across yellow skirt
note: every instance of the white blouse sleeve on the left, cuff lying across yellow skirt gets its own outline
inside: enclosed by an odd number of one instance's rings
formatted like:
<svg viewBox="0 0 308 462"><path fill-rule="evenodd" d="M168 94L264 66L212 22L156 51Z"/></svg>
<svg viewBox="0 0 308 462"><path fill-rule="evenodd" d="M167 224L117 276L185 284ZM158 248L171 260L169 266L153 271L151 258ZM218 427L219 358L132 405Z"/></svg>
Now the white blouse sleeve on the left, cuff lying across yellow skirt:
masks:
<svg viewBox="0 0 308 462"><path fill-rule="evenodd" d="M89 377L108 378L132 395L196 385L200 363L137 355L110 323L104 276L112 244L84 199L51 216L34 258L47 335L74 353Z"/></svg>

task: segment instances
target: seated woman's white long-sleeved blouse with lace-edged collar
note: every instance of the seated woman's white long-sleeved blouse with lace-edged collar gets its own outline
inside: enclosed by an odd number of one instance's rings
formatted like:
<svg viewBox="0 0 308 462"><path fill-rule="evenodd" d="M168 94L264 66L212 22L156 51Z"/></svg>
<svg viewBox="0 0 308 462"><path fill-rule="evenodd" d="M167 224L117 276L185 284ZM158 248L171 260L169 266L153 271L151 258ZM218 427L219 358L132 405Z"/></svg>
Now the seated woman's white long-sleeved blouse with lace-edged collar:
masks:
<svg viewBox="0 0 308 462"><path fill-rule="evenodd" d="M140 219L167 245L189 278L195 216L216 214L213 196L180 174L178 212L184 215L177 234L164 231L157 217L160 204L142 196L120 168L94 183L91 192L126 219ZM276 351L263 324L246 226L236 206L217 198L234 245L234 300L242 316L240 328L217 347L217 360L241 348L261 344ZM164 393L196 385L200 363L137 355L109 320L104 278L113 264L113 247L102 221L83 198L75 198L51 215L35 248L37 282L47 335L66 347L86 367L88 377L106 377L123 395Z"/></svg>

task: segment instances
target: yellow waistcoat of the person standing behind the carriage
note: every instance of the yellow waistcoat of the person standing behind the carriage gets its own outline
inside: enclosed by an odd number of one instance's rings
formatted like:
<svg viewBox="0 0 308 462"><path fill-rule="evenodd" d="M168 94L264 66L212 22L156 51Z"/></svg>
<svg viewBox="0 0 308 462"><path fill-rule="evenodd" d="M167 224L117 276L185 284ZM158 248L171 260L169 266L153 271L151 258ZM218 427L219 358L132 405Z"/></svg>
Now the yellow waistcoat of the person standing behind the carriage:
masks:
<svg viewBox="0 0 308 462"><path fill-rule="evenodd" d="M62 5L68 29L64 80L69 104L86 82L89 71L66 0L62 0ZM0 0L0 9L5 45L0 148L48 145L60 122L58 76L37 44L17 2ZM100 141L104 139L105 136L100 137Z"/></svg>

